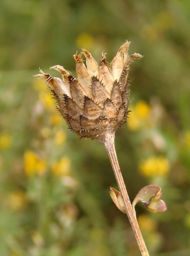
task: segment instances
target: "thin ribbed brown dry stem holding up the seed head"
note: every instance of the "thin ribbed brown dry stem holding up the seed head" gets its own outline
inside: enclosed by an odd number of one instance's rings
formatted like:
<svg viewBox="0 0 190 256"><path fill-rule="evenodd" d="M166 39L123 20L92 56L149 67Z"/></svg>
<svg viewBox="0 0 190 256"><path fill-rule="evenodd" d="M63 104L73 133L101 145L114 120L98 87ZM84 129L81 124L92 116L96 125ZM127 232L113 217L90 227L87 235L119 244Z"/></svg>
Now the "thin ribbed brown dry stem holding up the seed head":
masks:
<svg viewBox="0 0 190 256"><path fill-rule="evenodd" d="M126 190L126 187L125 187L125 183L123 181L121 170L119 168L119 163L117 161L117 155L116 155L116 152L115 152L114 138L115 138L114 134L110 134L110 133L107 134L106 139L105 139L103 144L106 148L106 151L108 152L108 156L109 156L110 161L111 161L113 172L115 174L115 178L117 180L119 190L121 192L121 195L123 197L123 201L125 203L127 216L129 218L129 222L130 222L130 224L133 228L133 232L135 234L135 238L136 238L137 243L139 245L139 249L141 251L141 254L143 256L149 256L148 251L146 249L146 245L145 245L144 240L143 240L143 236L141 234L141 230L140 230L138 222L137 222L135 212L134 212L134 210L131 206L129 196L127 194L127 190Z"/></svg>

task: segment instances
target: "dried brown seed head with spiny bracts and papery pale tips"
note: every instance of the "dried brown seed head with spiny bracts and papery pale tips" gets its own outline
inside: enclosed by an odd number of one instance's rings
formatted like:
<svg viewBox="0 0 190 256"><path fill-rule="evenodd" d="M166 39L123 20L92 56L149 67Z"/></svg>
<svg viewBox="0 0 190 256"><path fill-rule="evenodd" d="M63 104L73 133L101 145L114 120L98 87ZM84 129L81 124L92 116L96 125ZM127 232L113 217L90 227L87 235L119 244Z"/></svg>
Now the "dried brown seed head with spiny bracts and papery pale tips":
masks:
<svg viewBox="0 0 190 256"><path fill-rule="evenodd" d="M106 134L114 134L125 122L128 114L129 64L133 59L142 57L137 53L128 56L129 44L126 42L119 48L110 67L103 53L99 67L87 50L83 49L79 55L76 53L76 79L60 65L50 69L59 71L62 80L42 70L36 75L53 91L69 128L80 137L104 143ZM87 67L82 54L86 57Z"/></svg>

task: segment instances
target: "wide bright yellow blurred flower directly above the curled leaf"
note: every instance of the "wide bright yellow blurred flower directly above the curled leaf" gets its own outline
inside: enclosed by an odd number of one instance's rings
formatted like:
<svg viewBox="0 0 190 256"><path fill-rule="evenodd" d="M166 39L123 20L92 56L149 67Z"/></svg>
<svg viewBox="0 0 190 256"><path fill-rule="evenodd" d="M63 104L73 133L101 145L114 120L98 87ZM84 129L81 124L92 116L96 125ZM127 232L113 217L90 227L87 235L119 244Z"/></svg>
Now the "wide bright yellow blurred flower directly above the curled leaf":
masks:
<svg viewBox="0 0 190 256"><path fill-rule="evenodd" d="M144 176L164 176L170 170L170 163L165 157L151 156L139 164L139 170Z"/></svg>

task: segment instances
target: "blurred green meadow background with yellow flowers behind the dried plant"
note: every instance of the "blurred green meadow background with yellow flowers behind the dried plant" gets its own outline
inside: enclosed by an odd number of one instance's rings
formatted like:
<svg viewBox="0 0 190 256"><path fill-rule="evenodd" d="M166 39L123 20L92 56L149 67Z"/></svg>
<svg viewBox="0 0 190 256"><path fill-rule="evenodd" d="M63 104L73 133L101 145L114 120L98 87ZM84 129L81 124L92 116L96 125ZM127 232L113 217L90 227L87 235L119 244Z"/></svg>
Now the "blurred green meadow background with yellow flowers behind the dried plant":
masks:
<svg viewBox="0 0 190 256"><path fill-rule="evenodd" d="M116 133L131 201L149 184L168 210L136 206L150 255L190 255L190 2L1 0L0 255L138 256L104 147L79 140L33 77L88 49L98 61L131 41L132 112Z"/></svg>

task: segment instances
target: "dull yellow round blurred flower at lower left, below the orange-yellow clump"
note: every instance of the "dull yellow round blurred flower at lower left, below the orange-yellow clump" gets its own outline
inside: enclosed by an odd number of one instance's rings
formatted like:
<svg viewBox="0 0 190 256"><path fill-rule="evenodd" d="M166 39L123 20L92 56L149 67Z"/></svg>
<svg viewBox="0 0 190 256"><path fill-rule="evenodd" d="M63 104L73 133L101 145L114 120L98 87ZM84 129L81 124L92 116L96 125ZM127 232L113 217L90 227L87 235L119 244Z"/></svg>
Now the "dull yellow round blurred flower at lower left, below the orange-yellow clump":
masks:
<svg viewBox="0 0 190 256"><path fill-rule="evenodd" d="M8 205L14 210L23 210L26 208L26 195L23 191L12 191L8 198Z"/></svg>

